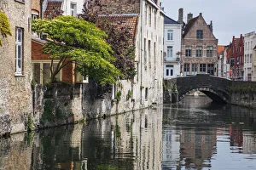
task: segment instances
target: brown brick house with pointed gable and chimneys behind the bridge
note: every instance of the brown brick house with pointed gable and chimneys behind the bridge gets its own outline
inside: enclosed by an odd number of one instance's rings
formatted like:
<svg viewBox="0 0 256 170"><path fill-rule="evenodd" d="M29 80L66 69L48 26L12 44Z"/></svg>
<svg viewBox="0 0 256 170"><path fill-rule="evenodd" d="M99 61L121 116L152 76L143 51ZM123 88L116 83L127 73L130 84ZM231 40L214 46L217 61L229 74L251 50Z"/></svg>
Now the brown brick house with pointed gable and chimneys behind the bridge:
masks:
<svg viewBox="0 0 256 170"><path fill-rule="evenodd" d="M179 13L183 13L183 10L179 10ZM178 21L184 24L181 17L183 14L179 14ZM187 24L183 26L182 40L183 76L197 73L216 75L218 39L213 35L212 21L207 25L201 13L195 18L193 14L188 14L187 19Z"/></svg>

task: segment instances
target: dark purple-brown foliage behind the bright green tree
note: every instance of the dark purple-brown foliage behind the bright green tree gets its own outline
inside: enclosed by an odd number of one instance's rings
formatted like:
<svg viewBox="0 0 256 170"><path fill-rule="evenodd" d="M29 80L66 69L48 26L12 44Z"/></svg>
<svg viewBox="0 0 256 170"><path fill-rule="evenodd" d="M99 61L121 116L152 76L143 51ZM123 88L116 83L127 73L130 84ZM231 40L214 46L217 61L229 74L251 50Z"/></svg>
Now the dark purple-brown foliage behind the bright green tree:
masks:
<svg viewBox="0 0 256 170"><path fill-rule="evenodd" d="M108 20L108 16L102 17L102 3L99 0L84 3L83 14L80 17L93 22L108 34L107 42L113 49L114 65L124 74L124 79L131 79L136 75L135 47L128 26L116 26Z"/></svg>

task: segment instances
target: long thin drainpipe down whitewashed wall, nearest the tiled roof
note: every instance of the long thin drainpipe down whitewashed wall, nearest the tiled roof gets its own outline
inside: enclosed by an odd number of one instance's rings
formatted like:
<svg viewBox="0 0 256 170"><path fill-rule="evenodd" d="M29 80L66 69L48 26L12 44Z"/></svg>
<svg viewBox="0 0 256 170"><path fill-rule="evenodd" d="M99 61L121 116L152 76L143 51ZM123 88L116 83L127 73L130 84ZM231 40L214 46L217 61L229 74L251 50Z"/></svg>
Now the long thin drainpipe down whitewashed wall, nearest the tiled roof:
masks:
<svg viewBox="0 0 256 170"><path fill-rule="evenodd" d="M141 38L140 38L140 62L141 62L141 85L140 85L140 91L141 91L141 104L143 104L143 2L144 0L141 0Z"/></svg>

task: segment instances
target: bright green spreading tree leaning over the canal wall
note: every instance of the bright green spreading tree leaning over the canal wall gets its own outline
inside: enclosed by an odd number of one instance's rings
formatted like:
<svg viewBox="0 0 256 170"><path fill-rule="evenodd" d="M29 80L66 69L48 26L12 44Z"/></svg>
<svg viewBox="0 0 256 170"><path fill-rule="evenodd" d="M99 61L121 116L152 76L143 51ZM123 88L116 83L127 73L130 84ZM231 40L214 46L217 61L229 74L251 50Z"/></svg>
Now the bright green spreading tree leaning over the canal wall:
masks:
<svg viewBox="0 0 256 170"><path fill-rule="evenodd" d="M50 54L51 80L68 63L76 63L76 71L89 76L100 84L112 84L121 76L112 64L113 50L105 41L107 34L93 23L72 16L57 16L53 20L34 20L32 31L47 34L49 41L44 45L44 54ZM53 60L59 59L56 68Z"/></svg>

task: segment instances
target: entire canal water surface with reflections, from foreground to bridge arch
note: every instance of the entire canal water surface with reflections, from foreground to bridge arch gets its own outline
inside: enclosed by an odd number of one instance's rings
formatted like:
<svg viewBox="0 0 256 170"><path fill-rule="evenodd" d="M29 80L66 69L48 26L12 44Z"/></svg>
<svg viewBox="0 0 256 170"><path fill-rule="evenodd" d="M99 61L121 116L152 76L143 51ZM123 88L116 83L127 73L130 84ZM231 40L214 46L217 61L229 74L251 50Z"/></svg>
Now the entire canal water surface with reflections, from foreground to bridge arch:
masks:
<svg viewBox="0 0 256 170"><path fill-rule="evenodd" d="M189 96L0 140L0 169L256 169L256 111Z"/></svg>

